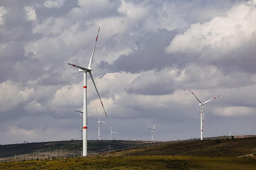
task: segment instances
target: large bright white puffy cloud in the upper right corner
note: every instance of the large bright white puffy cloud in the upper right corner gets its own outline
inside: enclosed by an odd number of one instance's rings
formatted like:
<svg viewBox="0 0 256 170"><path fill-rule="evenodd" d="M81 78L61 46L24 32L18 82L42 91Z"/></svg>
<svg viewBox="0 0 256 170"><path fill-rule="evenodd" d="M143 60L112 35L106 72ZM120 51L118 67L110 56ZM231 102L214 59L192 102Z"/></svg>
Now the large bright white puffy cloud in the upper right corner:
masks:
<svg viewBox="0 0 256 170"><path fill-rule="evenodd" d="M255 1L254 1L255 2ZM166 47L167 53L199 53L204 48L231 51L252 38L256 31L256 7L252 2L235 4L225 16L191 24Z"/></svg>

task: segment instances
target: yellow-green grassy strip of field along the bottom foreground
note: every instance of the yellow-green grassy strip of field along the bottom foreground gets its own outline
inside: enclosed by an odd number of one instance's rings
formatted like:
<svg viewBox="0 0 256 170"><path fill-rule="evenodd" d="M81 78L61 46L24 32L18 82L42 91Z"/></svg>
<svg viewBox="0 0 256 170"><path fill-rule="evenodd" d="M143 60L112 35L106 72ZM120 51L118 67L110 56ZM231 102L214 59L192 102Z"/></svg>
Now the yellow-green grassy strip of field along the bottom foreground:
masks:
<svg viewBox="0 0 256 170"><path fill-rule="evenodd" d="M255 170L256 159L201 156L86 157L0 163L1 170Z"/></svg>

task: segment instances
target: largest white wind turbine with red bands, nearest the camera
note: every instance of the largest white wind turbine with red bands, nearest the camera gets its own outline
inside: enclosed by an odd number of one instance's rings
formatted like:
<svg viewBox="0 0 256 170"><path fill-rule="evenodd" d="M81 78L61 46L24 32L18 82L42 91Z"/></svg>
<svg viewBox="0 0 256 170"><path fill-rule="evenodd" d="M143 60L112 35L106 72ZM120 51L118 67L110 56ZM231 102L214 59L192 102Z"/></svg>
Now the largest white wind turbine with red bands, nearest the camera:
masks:
<svg viewBox="0 0 256 170"><path fill-rule="evenodd" d="M88 68L86 67L83 67L83 66L77 66L75 64L69 64L71 66L74 66L74 67L77 67L79 68L79 72L83 72L83 156L86 156L87 155L87 72L89 73L91 79L92 79L92 83L94 84L94 87L97 91L97 94L99 96L99 92L97 90L97 87L95 85L95 82L94 82L94 79L92 77L92 58L93 58L93 55L94 55L94 51L95 51L95 47L96 47L96 44L97 44L97 40L98 40L98 35L99 35L99 31L98 31L98 34L97 34L97 38L95 40L95 44L94 44L94 47L92 49L92 54L91 54L91 57L90 57L90 61L89 61L89 66ZM101 101L101 97L99 96L99 100ZM107 113L105 111L105 108L101 102L101 105L103 107L103 110L107 116Z"/></svg>

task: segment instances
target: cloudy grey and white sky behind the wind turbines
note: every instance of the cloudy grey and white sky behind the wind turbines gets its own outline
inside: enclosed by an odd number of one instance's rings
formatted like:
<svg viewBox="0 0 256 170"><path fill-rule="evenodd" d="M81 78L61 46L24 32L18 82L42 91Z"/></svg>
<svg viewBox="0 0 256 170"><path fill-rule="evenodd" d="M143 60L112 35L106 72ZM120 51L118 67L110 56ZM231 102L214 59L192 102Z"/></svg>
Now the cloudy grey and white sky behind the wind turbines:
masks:
<svg viewBox="0 0 256 170"><path fill-rule="evenodd" d="M80 139L83 74L88 139L97 113L119 140L256 134L256 0L1 0L0 144ZM101 126L101 138L110 128Z"/></svg>

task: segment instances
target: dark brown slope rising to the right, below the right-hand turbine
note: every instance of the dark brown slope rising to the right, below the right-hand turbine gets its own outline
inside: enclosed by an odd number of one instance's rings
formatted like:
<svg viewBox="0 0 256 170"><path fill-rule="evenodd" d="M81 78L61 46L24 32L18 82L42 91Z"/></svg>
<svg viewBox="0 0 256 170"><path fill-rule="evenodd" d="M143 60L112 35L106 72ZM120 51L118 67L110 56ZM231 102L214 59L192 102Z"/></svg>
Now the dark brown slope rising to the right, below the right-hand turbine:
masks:
<svg viewBox="0 0 256 170"><path fill-rule="evenodd" d="M113 153L111 156L190 155L238 157L252 153L256 153L256 137L163 143L142 148L132 148Z"/></svg>

